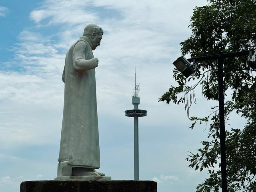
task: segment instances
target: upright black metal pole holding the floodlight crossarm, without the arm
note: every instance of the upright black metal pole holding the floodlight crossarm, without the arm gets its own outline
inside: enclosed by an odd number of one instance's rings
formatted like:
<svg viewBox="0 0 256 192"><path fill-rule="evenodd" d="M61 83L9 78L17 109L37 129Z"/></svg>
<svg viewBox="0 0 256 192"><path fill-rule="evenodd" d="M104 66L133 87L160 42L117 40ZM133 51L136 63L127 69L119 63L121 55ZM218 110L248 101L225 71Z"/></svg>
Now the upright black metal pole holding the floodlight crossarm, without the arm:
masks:
<svg viewBox="0 0 256 192"><path fill-rule="evenodd" d="M227 192L227 164L226 164L226 133L224 116L224 83L223 83L223 58L218 58L218 94L220 118L220 163L221 163L221 188Z"/></svg>

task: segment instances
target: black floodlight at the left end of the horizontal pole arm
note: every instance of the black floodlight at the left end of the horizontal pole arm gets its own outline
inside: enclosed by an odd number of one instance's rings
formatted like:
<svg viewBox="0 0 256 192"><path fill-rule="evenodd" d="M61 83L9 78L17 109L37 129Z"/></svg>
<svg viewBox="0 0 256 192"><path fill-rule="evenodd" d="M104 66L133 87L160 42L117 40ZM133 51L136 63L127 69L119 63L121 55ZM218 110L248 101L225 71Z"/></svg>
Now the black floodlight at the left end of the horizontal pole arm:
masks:
<svg viewBox="0 0 256 192"><path fill-rule="evenodd" d="M182 72L182 74L188 78L190 75L194 73L196 69L195 62L190 63L184 56L179 57L176 61L173 62L176 68Z"/></svg>

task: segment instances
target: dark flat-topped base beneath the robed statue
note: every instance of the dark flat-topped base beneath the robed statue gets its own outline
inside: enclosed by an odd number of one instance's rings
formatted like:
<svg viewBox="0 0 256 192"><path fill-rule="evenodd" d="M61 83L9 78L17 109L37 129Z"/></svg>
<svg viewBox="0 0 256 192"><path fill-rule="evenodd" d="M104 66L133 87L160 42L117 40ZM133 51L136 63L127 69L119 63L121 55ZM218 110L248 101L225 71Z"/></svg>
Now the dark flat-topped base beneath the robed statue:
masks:
<svg viewBox="0 0 256 192"><path fill-rule="evenodd" d="M24 181L20 184L20 192L157 192L157 183L140 180Z"/></svg>

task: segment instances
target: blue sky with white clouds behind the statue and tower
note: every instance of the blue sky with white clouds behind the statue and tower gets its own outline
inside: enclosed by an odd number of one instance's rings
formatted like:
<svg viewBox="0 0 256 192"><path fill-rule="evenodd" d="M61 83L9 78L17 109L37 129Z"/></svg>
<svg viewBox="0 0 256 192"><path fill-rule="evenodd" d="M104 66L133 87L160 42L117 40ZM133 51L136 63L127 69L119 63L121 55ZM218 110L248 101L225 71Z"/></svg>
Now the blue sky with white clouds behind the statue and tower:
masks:
<svg viewBox="0 0 256 192"><path fill-rule="evenodd" d="M114 180L134 178L132 109L134 71L140 83L140 179L158 182L159 192L193 192L206 172L188 168L188 151L206 139L205 125L189 129L184 106L158 102L170 85L188 38L193 8L206 0L0 1L0 191L18 192L25 180L52 180L62 124L65 54L84 26L104 30L94 51L101 168ZM189 56L188 56L189 57ZM207 116L196 90L193 116Z"/></svg>

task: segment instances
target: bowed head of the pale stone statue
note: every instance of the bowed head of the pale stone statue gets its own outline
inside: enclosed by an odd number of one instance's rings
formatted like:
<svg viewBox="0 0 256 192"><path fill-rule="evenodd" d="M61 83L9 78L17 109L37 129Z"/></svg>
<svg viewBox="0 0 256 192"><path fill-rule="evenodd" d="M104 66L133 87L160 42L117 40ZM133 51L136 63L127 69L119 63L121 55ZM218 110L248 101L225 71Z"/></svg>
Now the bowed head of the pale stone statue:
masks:
<svg viewBox="0 0 256 192"><path fill-rule="evenodd" d="M102 39L103 30L101 27L95 24L88 24L84 28L83 36L88 37L92 42L92 50L95 50L97 46L100 45L100 40Z"/></svg>

